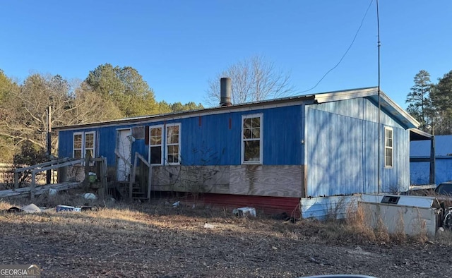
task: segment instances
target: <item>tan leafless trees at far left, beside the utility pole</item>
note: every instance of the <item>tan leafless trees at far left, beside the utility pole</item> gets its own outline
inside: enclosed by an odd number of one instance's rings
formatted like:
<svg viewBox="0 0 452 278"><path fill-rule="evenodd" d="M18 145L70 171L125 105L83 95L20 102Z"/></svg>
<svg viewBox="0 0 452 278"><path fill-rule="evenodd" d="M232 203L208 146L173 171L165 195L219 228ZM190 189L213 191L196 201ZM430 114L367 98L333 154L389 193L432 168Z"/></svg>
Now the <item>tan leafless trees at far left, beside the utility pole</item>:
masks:
<svg viewBox="0 0 452 278"><path fill-rule="evenodd" d="M60 75L28 76L22 85L8 92L0 103L0 137L11 149L23 143L46 148L47 108L52 107L52 125L66 126L118 119L121 111L110 101L91 91L85 83L72 87ZM52 147L57 146L52 135Z"/></svg>

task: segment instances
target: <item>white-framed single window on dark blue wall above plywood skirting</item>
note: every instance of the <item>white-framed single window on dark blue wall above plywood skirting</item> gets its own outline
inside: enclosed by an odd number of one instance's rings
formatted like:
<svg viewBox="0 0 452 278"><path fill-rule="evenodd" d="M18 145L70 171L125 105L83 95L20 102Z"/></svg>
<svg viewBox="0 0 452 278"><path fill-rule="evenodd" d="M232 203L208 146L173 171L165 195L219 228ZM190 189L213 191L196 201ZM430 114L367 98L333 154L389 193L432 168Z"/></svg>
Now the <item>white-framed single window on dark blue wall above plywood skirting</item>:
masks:
<svg viewBox="0 0 452 278"><path fill-rule="evenodd" d="M242 163L262 164L262 114L242 116Z"/></svg>

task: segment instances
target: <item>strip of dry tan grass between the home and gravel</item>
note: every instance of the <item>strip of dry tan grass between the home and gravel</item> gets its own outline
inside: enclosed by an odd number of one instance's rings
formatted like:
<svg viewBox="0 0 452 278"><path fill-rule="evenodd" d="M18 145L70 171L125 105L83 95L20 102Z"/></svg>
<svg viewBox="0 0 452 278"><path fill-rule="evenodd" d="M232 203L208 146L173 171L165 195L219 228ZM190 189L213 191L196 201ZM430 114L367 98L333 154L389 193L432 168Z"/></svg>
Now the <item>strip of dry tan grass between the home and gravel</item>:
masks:
<svg viewBox="0 0 452 278"><path fill-rule="evenodd" d="M153 203L105 203L101 200L85 200L81 192L59 193L55 196L41 195L35 199L35 205L49 208L41 214L7 214L3 212L9 207L27 205L30 200L0 200L0 223L20 224L21 222L52 223L61 233L73 234L83 229L95 229L97 233L107 233L109 229L121 229L138 233L149 229L169 229L174 231L196 231L204 233L205 223L215 226L210 232L244 232L253 230L260 236L285 238L310 238L311 241L325 243L424 243L429 241L420 223L420 232L416 236L407 236L403 231L403 217L399 217L396 233L389 234L388 229L379 219L375 229L367 223L367 215L360 206L350 205L346 219L330 218L325 222L302 219L295 224L272 219L265 215L256 218L234 217L230 210L221 207L198 205L182 205L172 207L172 201L155 201ZM95 211L56 212L57 205L90 205L97 207ZM424 223L425 224L425 223ZM442 238L445 238L444 232ZM139 235L139 233L138 233ZM452 236L451 236L452 238ZM452 242L452 241L451 241Z"/></svg>

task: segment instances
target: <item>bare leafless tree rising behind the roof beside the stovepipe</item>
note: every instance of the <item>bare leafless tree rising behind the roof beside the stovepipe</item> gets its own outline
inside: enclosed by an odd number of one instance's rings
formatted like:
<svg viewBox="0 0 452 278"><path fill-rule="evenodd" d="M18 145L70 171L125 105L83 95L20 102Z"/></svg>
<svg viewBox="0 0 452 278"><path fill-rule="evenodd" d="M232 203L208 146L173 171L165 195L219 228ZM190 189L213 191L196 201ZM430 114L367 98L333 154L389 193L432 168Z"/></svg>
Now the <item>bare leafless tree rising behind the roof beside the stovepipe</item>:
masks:
<svg viewBox="0 0 452 278"><path fill-rule="evenodd" d="M251 56L232 64L208 81L205 102L209 106L217 106L220 102L220 78L222 77L232 79L231 101L233 104L285 97L294 91L294 87L290 85L290 73L275 68L275 64L264 56Z"/></svg>

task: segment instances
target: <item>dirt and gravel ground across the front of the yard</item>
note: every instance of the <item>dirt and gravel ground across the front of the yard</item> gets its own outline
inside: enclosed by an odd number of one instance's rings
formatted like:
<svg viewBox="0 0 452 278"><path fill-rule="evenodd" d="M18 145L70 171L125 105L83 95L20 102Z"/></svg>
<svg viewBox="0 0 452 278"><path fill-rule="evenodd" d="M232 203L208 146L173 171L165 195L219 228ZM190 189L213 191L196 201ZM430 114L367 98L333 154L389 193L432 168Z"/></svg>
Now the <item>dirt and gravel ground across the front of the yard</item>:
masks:
<svg viewBox="0 0 452 278"><path fill-rule="evenodd" d="M0 200L1 265L36 264L42 277L452 277L448 234L369 239L343 222L238 218L183 202L55 212L56 202L37 200L51 208L23 214Z"/></svg>

